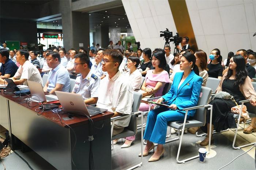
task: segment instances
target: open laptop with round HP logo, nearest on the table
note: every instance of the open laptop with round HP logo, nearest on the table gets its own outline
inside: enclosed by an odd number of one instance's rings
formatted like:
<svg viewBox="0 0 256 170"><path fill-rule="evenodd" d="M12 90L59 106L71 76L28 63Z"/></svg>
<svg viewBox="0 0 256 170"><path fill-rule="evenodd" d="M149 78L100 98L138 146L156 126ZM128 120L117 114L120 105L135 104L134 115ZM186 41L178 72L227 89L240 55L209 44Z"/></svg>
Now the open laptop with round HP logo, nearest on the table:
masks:
<svg viewBox="0 0 256 170"><path fill-rule="evenodd" d="M81 94L55 91L55 94L60 100L63 110L77 115L95 116L107 111L107 109L86 106Z"/></svg>

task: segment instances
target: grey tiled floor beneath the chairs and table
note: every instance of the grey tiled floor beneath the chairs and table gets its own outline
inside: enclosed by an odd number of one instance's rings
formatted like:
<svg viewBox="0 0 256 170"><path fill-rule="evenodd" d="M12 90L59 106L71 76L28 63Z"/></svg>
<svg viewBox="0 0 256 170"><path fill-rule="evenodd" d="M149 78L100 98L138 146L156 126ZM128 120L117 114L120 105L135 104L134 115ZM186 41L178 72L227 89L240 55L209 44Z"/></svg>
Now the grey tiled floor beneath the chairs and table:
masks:
<svg viewBox="0 0 256 170"><path fill-rule="evenodd" d="M241 125L243 127L243 125ZM121 149L121 140L114 145L114 150L112 151L112 169L127 169L140 162L140 131L136 135L136 140L131 147ZM243 134L242 128L238 131L237 144L246 144L249 142L256 141L256 133L253 134ZM1 133L0 135L3 135ZM177 134L171 135L171 138L176 137ZM229 163L232 159L238 155L244 153L246 150L251 148L251 146L240 150L232 149L232 141L234 137L234 130L231 129L227 132L217 133L214 135L214 145L211 145L211 154L206 158L204 163L200 163L199 159L193 159L186 163L177 163L176 155L178 150L179 141L174 141L164 145L165 153L164 157L157 162L148 162L148 159L153 154L153 151L147 157L143 157L143 165L139 169L172 169L172 170L217 170L223 165ZM198 145L204 137L196 137L192 134L184 135L184 142L182 143L182 149L180 158L184 159L189 156L198 154L198 149L201 147ZM123 140L124 141L124 140ZM144 147L144 146L143 146ZM52 165L42 159L39 155L33 151L22 153L17 150L24 159L33 167L33 169L54 169ZM233 163L223 168L223 170L253 170L255 169L254 164L254 154L255 147L248 153L242 155L242 157L236 159ZM8 157L3 158L3 163L6 169L29 169L25 162L23 162L15 153L10 154ZM3 169L0 163L0 169Z"/></svg>

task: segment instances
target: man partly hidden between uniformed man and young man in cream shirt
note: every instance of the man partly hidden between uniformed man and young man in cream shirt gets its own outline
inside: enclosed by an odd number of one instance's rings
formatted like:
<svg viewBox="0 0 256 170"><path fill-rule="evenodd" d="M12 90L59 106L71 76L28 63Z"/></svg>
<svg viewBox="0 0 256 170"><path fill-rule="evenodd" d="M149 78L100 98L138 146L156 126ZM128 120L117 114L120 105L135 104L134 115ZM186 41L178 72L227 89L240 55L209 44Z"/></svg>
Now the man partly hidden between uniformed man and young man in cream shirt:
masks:
<svg viewBox="0 0 256 170"><path fill-rule="evenodd" d="M99 49L97 55L95 56L95 63L93 63L93 65L91 66L91 71L93 72L93 74L99 76L99 78L103 79L104 77L106 77L106 72L102 71L102 59L103 59L103 52L105 51L105 49L101 48Z"/></svg>

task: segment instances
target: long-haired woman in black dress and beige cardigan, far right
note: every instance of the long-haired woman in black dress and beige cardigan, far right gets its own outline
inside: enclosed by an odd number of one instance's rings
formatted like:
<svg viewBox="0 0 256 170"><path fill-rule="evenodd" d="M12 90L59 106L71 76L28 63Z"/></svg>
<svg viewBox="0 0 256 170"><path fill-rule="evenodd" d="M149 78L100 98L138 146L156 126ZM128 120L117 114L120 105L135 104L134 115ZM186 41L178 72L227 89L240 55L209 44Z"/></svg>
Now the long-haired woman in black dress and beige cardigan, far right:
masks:
<svg viewBox="0 0 256 170"><path fill-rule="evenodd" d="M253 106L256 106L256 92L252 86L251 79L247 76L245 60L241 55L234 55L230 59L229 70L223 75L216 93L225 91L234 96L234 100L225 100L215 98L209 104L212 104L212 124L210 124L210 114L207 114L207 125L201 129L210 134L210 126L217 132L228 128L236 128L236 122L233 115L230 114L231 108L236 106L240 100L249 99ZM209 136L201 143L201 146L207 146ZM211 141L213 142L213 140Z"/></svg>

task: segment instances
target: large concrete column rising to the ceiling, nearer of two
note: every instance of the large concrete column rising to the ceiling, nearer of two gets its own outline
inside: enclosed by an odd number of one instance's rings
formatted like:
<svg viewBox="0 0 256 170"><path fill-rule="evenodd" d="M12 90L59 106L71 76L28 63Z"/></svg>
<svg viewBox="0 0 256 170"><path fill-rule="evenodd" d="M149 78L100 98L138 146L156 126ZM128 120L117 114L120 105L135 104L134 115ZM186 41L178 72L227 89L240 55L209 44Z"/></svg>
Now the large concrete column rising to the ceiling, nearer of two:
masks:
<svg viewBox="0 0 256 170"><path fill-rule="evenodd" d="M83 48L90 46L89 14L71 11L71 0L63 1L61 17L63 43L66 50L75 48L79 50L79 43Z"/></svg>

